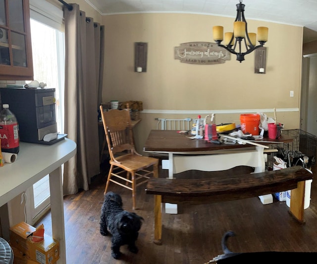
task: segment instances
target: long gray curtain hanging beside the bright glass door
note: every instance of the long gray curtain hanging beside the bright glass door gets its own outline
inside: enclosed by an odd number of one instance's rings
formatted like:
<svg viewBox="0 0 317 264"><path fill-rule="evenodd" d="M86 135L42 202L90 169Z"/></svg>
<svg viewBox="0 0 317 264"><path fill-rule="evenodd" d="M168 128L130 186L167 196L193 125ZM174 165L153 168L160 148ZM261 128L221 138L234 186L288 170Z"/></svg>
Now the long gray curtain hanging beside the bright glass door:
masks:
<svg viewBox="0 0 317 264"><path fill-rule="evenodd" d="M64 195L88 190L99 174L98 106L101 103L104 27L86 17L78 4L64 10L65 133L77 154L64 165Z"/></svg>

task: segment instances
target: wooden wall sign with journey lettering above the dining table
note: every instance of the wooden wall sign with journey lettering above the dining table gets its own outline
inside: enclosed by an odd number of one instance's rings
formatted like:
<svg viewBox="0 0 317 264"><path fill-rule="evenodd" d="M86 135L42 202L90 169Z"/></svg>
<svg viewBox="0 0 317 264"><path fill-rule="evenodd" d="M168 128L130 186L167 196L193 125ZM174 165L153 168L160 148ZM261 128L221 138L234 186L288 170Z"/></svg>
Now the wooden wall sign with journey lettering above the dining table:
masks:
<svg viewBox="0 0 317 264"><path fill-rule="evenodd" d="M230 60L230 52L211 42L187 42L174 47L174 59L190 64L219 64Z"/></svg>

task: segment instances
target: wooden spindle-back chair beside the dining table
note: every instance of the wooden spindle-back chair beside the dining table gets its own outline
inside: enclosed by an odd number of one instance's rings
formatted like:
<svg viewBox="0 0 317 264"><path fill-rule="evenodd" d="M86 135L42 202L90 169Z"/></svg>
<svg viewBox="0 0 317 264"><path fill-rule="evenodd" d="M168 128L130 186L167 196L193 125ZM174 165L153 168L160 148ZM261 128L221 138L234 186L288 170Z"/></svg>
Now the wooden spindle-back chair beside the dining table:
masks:
<svg viewBox="0 0 317 264"><path fill-rule="evenodd" d="M127 188L132 191L132 208L135 209L136 187L146 183L151 176L158 178L159 159L142 156L136 151L129 109L104 112L101 105L100 111L110 155L105 194L110 182Z"/></svg>

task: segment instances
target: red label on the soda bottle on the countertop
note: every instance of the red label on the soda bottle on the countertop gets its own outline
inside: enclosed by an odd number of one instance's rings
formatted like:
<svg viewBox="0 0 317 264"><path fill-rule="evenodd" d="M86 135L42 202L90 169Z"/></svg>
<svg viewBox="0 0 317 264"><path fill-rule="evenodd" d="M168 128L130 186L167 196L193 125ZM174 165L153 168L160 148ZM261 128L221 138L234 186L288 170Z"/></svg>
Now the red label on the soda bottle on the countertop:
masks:
<svg viewBox="0 0 317 264"><path fill-rule="evenodd" d="M0 125L1 148L15 148L19 146L18 124Z"/></svg>

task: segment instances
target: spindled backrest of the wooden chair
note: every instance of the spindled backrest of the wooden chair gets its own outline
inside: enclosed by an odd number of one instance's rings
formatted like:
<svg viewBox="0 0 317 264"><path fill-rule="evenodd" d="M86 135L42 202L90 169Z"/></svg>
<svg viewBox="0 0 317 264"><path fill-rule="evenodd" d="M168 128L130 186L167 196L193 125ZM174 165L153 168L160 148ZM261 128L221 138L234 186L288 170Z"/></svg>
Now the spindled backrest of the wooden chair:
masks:
<svg viewBox="0 0 317 264"><path fill-rule="evenodd" d="M104 111L100 106L111 160L118 152L135 152L129 109Z"/></svg>

